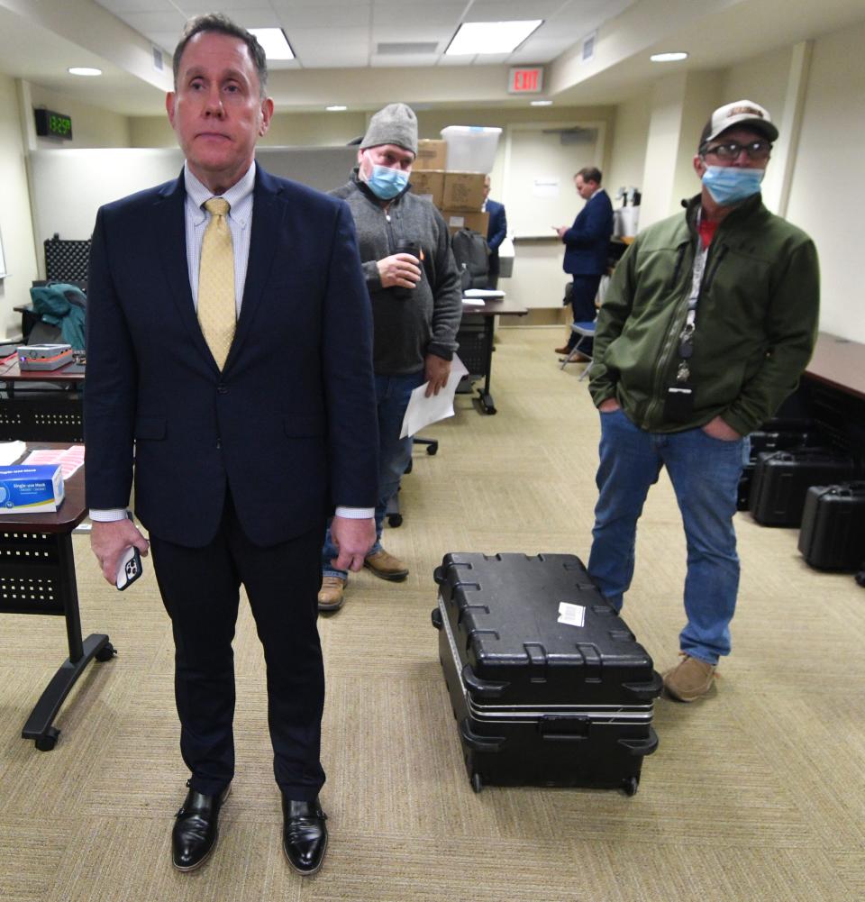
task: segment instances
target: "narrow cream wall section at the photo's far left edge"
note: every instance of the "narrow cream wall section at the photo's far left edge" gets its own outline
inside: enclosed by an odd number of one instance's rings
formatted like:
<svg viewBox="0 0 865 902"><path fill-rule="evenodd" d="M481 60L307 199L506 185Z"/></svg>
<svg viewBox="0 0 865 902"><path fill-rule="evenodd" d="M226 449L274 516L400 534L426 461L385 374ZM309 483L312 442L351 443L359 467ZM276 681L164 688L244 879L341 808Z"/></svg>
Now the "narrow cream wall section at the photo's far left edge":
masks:
<svg viewBox="0 0 865 902"><path fill-rule="evenodd" d="M0 279L0 336L20 334L21 315L13 308L30 303L30 283L37 276L24 161L17 86L0 75L0 238L9 273Z"/></svg>

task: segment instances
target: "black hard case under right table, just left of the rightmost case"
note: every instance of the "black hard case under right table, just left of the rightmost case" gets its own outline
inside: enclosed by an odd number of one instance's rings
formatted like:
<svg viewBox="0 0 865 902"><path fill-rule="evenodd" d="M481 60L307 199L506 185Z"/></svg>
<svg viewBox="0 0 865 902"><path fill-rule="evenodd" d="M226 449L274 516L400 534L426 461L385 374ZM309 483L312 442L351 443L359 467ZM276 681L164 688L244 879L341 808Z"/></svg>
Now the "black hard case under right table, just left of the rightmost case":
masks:
<svg viewBox="0 0 865 902"><path fill-rule="evenodd" d="M825 448L761 454L750 485L748 509L763 526L798 526L812 485L853 477L849 456Z"/></svg>

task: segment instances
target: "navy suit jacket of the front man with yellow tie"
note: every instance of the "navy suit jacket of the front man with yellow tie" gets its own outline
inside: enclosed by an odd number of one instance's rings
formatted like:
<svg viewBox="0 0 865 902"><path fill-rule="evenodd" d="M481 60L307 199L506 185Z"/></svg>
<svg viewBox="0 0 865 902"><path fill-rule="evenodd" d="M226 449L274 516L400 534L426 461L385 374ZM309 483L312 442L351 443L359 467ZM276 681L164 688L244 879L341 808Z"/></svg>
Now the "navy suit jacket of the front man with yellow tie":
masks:
<svg viewBox="0 0 865 902"><path fill-rule="evenodd" d="M182 174L102 207L87 291L87 505L198 548L226 486L262 547L371 508L372 313L345 203L256 167L244 299L220 373L189 288Z"/></svg>

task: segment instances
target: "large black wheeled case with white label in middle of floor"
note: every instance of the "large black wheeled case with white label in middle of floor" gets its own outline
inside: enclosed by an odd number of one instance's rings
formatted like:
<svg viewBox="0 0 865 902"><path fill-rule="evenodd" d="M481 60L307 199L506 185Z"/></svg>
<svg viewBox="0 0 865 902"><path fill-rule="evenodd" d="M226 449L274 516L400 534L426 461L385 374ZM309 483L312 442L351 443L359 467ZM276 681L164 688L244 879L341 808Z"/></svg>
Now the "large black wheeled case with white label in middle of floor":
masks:
<svg viewBox="0 0 865 902"><path fill-rule="evenodd" d="M637 791L658 748L652 659L574 555L448 554L438 654L472 787ZM581 626L559 621L559 605Z"/></svg>

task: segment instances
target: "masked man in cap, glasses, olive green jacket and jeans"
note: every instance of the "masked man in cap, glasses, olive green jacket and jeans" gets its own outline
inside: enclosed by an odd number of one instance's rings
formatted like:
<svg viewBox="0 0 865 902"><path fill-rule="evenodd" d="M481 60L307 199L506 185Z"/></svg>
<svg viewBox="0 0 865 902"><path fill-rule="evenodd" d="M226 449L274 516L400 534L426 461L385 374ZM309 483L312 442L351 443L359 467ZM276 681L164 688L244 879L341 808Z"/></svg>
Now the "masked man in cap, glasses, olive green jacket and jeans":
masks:
<svg viewBox="0 0 865 902"><path fill-rule="evenodd" d="M796 388L814 347L817 253L763 206L778 128L737 100L706 123L684 213L640 232L598 314L590 391L601 414L589 575L618 609L637 520L667 468L687 547L681 660L667 695L693 702L731 649L739 589L733 514L747 436Z"/></svg>

